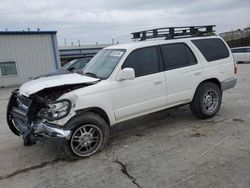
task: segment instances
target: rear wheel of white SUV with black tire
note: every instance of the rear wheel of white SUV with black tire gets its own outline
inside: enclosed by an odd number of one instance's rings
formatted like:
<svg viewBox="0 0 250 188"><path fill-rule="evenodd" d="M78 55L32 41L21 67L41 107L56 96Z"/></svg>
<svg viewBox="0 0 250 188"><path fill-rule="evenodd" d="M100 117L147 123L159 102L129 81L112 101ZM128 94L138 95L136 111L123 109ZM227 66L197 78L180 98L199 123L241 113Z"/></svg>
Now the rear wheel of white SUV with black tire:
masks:
<svg viewBox="0 0 250 188"><path fill-rule="evenodd" d="M210 99L209 102L212 101L210 102L212 105L211 109L208 108L208 105L205 102L206 100L208 100L207 98L209 95L211 95L211 98L209 98ZM212 97L212 95L214 97ZM217 97L217 104L213 104L216 103L215 102L216 97ZM215 83L204 82L196 89L194 98L190 103L190 109L196 117L200 119L207 119L213 117L219 111L221 106L221 99L222 99L222 92L220 88Z"/></svg>

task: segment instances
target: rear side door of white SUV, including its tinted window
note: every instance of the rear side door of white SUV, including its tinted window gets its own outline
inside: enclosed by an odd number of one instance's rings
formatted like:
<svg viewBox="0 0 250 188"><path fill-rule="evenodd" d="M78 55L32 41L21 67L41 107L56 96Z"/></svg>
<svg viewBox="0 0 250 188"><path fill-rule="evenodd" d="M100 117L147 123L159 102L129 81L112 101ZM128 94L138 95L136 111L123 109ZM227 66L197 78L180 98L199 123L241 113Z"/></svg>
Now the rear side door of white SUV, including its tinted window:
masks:
<svg viewBox="0 0 250 188"><path fill-rule="evenodd" d="M185 43L161 46L167 80L167 104L174 106L192 99L199 77L201 65Z"/></svg>

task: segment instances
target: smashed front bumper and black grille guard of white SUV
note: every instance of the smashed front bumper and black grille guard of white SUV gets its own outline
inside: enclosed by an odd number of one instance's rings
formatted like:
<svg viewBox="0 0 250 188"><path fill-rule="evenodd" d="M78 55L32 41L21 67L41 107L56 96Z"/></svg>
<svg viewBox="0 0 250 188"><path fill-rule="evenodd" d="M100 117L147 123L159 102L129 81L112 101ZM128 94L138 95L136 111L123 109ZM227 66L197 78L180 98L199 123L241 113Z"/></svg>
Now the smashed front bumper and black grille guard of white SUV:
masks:
<svg viewBox="0 0 250 188"><path fill-rule="evenodd" d="M24 145L35 144L38 140L62 144L70 139L71 130L46 120L37 120L34 105L32 99L19 96L14 91L7 107L8 125L14 134L23 137Z"/></svg>

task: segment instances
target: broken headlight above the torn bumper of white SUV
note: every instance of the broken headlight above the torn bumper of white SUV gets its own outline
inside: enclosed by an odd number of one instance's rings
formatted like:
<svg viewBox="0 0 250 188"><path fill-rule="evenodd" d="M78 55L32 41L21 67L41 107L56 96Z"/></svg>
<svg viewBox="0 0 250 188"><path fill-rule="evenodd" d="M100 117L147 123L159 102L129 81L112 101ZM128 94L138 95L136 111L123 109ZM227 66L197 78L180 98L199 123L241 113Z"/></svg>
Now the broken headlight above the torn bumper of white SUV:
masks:
<svg viewBox="0 0 250 188"><path fill-rule="evenodd" d="M66 117L71 109L71 102L67 99L51 102L47 108L42 108L38 116L49 121L58 120Z"/></svg>

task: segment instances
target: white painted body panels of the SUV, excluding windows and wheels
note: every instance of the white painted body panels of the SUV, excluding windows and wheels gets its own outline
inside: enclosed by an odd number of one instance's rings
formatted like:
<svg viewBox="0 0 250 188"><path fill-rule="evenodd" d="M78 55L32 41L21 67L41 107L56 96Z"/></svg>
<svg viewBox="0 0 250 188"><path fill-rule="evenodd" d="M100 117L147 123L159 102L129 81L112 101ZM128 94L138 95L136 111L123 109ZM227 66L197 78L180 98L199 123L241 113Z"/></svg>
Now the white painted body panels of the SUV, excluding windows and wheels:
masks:
<svg viewBox="0 0 250 188"><path fill-rule="evenodd" d="M199 83L206 79L216 78L224 81L236 77L231 53L228 58L207 62L195 45L190 42L191 39L155 40L107 47L106 49L126 50L111 76L107 80L101 80L91 86L65 93L59 99L69 99L74 104L70 117L75 114L73 112L76 110L98 107L107 113L110 124L114 125L117 122L190 102ZM196 55L198 64L136 77L132 80L119 79L122 64L133 50L175 42L187 44ZM230 49L228 48L228 50ZM28 96L46 87L91 81L96 81L96 79L77 74L60 75L29 82L20 88L20 92ZM66 117L65 121L70 117Z"/></svg>

